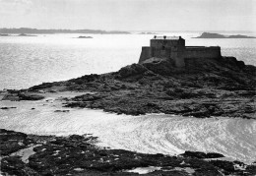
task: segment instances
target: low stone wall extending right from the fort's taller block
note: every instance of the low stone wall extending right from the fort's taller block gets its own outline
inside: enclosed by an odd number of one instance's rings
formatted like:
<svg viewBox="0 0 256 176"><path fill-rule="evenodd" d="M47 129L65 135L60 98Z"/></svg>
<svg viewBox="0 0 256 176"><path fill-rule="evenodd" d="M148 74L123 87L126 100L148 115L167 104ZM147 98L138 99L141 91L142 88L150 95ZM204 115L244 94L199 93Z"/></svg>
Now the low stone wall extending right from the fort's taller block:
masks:
<svg viewBox="0 0 256 176"><path fill-rule="evenodd" d="M185 47L184 58L219 58L221 57L220 46L189 46Z"/></svg>

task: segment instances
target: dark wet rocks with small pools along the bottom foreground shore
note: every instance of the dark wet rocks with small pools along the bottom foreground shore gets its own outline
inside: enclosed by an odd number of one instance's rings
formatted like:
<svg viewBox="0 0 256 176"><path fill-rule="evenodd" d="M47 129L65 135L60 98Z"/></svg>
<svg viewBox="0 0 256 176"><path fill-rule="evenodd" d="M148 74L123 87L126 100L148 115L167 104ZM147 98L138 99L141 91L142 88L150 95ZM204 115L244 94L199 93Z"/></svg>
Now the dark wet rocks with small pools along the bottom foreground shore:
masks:
<svg viewBox="0 0 256 176"><path fill-rule="evenodd" d="M2 175L138 175L136 168L152 170L144 175L256 174L253 164L209 160L224 157L219 153L168 156L99 148L89 135L34 136L4 129L0 135Z"/></svg>

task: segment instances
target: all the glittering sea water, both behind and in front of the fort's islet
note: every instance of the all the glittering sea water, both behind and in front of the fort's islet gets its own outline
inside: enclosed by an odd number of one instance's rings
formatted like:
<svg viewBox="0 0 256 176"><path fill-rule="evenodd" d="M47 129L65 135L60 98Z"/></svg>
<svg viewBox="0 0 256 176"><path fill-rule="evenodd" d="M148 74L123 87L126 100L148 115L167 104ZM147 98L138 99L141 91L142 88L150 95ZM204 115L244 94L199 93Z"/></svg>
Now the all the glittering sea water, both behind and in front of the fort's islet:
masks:
<svg viewBox="0 0 256 176"><path fill-rule="evenodd" d="M233 56L256 66L256 38L193 38L199 32L161 32L182 36L187 46L221 46ZM225 33L237 34L237 33ZM256 36L256 33L241 33ZM78 38L90 35L93 38ZM89 74L118 71L137 63L142 46L154 34L38 34L0 36L0 89L30 88ZM213 117L197 119L177 115L117 115L97 109L67 109L56 93L39 101L0 101L0 128L36 135L93 134L98 146L175 155L185 150L220 152L229 160L246 163L256 158L256 121ZM32 110L32 108L35 108Z"/></svg>

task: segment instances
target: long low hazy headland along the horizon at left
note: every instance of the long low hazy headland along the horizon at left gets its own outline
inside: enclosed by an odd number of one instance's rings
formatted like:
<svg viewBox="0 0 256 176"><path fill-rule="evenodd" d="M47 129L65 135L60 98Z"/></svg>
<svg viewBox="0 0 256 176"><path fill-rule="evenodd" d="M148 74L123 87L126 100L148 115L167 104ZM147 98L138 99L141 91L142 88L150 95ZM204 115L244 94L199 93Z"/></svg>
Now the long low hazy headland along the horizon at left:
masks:
<svg viewBox="0 0 256 176"><path fill-rule="evenodd" d="M129 34L128 31L119 30L101 30L101 29L0 29L0 33L96 33L96 34Z"/></svg>

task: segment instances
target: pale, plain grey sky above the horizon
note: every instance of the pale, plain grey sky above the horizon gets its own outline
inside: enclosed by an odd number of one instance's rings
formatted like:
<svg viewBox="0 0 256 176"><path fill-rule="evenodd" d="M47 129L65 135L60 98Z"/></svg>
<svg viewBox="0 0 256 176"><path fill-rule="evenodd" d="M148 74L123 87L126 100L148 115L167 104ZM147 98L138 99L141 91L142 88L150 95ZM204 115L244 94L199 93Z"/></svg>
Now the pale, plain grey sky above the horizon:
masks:
<svg viewBox="0 0 256 176"><path fill-rule="evenodd" d="M0 0L0 28L255 31L255 19L256 0Z"/></svg>

